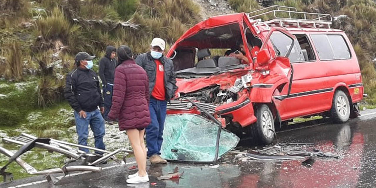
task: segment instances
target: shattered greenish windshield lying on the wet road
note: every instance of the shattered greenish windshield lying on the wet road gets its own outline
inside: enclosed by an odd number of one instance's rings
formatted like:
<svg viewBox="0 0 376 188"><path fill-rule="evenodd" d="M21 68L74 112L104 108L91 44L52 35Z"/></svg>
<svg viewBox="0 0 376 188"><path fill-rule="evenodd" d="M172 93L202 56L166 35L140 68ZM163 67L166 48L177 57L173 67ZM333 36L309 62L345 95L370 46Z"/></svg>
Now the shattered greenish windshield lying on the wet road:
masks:
<svg viewBox="0 0 376 188"><path fill-rule="evenodd" d="M166 117L161 148L162 158L190 162L213 162L218 125L197 114ZM240 138L222 129L218 158L237 146Z"/></svg>

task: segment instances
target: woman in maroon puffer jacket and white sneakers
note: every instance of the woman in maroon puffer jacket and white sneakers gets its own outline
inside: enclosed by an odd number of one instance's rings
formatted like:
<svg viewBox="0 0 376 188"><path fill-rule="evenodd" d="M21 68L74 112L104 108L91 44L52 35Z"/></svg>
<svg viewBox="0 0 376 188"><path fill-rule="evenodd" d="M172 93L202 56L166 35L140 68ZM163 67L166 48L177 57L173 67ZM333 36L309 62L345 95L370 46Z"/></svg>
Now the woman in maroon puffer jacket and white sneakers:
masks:
<svg viewBox="0 0 376 188"><path fill-rule="evenodd" d="M146 173L145 127L150 124L149 80L142 67L132 59L129 47L117 51L112 106L108 117L119 120L119 129L126 130L138 165L138 172L129 175L127 183L148 182Z"/></svg>

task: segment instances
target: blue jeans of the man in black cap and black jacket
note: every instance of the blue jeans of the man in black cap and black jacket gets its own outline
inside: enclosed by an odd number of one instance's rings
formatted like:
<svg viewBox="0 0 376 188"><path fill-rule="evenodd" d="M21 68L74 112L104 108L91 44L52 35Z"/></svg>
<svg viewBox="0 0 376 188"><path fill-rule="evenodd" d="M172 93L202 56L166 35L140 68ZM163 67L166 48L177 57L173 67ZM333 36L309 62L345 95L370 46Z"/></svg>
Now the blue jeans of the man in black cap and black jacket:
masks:
<svg viewBox="0 0 376 188"><path fill-rule="evenodd" d="M99 109L86 112L86 118L80 117L78 112L74 111L74 117L76 118L76 131L77 131L77 141L78 144L87 146L87 139L89 135L89 125L92 132L94 133L94 145L97 149L105 150L105 143L103 143L103 136L105 136L105 120L100 114ZM79 148L84 152L89 152L88 149ZM98 154L103 154L102 152L95 152Z"/></svg>

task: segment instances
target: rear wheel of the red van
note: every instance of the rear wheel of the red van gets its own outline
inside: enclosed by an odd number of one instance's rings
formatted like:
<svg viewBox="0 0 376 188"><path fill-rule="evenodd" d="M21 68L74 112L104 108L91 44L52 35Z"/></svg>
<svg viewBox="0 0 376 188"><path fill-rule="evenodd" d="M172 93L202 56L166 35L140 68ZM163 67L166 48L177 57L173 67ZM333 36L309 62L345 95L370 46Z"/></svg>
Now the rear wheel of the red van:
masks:
<svg viewBox="0 0 376 188"><path fill-rule="evenodd" d="M350 118L350 102L346 93L337 90L333 97L330 115L334 123L344 123Z"/></svg>

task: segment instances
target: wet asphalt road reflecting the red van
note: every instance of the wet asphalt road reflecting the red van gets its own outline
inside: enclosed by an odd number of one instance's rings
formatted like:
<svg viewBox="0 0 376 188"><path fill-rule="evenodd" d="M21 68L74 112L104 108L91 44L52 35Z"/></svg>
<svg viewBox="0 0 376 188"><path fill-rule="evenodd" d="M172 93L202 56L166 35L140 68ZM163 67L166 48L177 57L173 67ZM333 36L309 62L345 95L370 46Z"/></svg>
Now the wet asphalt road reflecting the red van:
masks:
<svg viewBox="0 0 376 188"><path fill-rule="evenodd" d="M374 112L374 111L373 111ZM363 112L367 113L367 112ZM124 166L107 165L100 173L81 173L65 177L56 188L170 188L170 187L239 187L239 188L374 188L376 187L376 114L349 120L345 124L311 121L277 133L279 143L315 143L316 149L337 154L340 159L315 158L311 166L302 161L241 161L235 154L226 154L218 168L210 165L176 164L148 165L149 183L126 184L132 160ZM240 151L247 150L242 141ZM310 146L302 146L310 147ZM156 180L175 167L184 171L181 179ZM56 175L59 176L59 175ZM26 184L25 184L26 183ZM156 185L153 185L156 183ZM0 184L1 188L49 187L43 176Z"/></svg>

